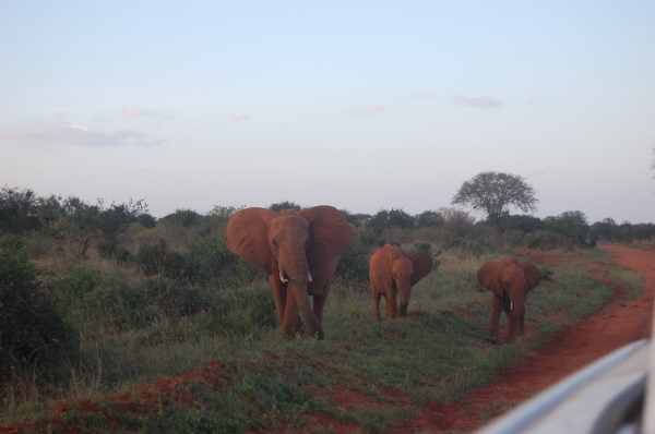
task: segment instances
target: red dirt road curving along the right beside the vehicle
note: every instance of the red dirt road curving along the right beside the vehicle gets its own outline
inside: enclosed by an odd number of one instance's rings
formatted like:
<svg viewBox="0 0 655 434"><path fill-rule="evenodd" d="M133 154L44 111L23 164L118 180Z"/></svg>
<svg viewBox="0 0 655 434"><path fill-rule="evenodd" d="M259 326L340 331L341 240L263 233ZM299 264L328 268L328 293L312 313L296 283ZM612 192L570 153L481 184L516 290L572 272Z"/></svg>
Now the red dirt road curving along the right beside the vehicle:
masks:
<svg viewBox="0 0 655 434"><path fill-rule="evenodd" d="M467 396L468 405L427 405L417 421L398 432L442 433L473 431L485 414L498 414L551 386L594 360L632 341L651 336L655 292L655 252L614 244L598 248L614 254L612 261L646 277L646 290L636 300L606 309L580 321L547 347L501 372L501 377ZM492 420L492 418L489 418Z"/></svg>

